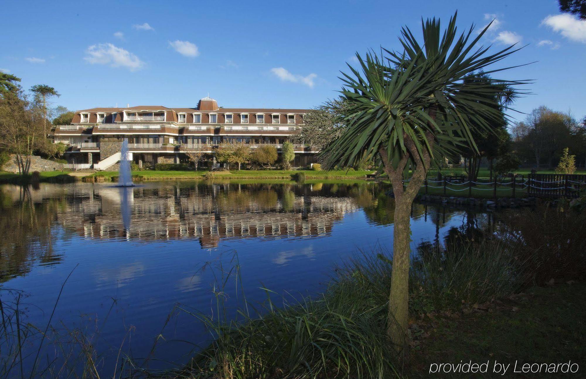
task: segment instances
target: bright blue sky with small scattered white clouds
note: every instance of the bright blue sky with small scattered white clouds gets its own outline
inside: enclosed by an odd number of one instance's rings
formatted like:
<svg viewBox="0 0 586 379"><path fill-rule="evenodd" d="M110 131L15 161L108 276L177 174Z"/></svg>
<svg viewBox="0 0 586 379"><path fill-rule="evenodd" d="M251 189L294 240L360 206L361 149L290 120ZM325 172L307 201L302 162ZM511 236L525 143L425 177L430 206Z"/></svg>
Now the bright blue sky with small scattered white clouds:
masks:
<svg viewBox="0 0 586 379"><path fill-rule="evenodd" d="M503 64L537 61L506 73L533 79L516 109L539 105L586 115L586 21L560 15L556 0L4 2L0 69L55 87L56 105L311 108L336 96L339 71L355 51L398 49L403 25L421 17L462 31L496 25L494 49L529 44ZM520 116L521 118L523 116Z"/></svg>

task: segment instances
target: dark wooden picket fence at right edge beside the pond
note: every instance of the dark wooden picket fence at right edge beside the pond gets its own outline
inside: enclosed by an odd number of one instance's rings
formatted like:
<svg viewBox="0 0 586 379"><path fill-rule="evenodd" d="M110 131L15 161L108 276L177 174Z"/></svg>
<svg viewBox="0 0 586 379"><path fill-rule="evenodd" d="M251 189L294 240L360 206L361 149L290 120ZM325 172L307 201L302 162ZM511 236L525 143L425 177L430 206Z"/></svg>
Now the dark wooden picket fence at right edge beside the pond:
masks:
<svg viewBox="0 0 586 379"><path fill-rule="evenodd" d="M540 198L577 198L586 190L586 175L529 174L527 195Z"/></svg>

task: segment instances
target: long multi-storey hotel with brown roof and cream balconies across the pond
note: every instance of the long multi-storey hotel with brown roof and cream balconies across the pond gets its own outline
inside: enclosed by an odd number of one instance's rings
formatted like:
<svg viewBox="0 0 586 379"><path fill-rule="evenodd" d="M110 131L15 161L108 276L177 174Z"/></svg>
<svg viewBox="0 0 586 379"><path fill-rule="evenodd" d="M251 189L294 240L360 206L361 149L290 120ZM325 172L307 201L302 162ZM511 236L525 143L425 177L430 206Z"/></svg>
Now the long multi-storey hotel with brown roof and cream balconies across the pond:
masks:
<svg viewBox="0 0 586 379"><path fill-rule="evenodd" d="M196 108L127 106L76 111L71 125L59 125L55 142L67 145L69 163L105 170L120 160L122 140L128 139L132 161L186 163L185 151L213 153L222 143L244 142L255 149L271 144L280 153L282 144L304 125L306 109L221 108L206 97ZM293 166L315 162L315 153L294 144Z"/></svg>

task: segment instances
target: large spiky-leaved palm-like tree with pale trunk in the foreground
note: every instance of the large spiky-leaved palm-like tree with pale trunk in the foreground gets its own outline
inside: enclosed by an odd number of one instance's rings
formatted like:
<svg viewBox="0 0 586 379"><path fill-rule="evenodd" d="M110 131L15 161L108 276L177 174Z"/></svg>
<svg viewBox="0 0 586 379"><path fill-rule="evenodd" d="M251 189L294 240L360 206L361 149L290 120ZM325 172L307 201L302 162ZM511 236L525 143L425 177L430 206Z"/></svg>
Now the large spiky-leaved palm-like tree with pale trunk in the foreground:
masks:
<svg viewBox="0 0 586 379"><path fill-rule="evenodd" d="M473 80L480 70L518 49L509 46L488 54L490 46L476 44L490 24L478 35L471 27L456 36L455 23L456 15L442 35L440 21L428 19L422 22L423 44L403 27L403 51L383 49L380 56L373 51L364 59L356 54L362 70L349 66L352 74L343 74L340 91L349 103L342 120L347 127L324 151L329 167L351 166L365 152L377 154L391 180L395 213L387 334L398 350L407 335L410 211L415 196L431 164L440 166L443 157L475 148L472 132L488 131L502 119L502 111L490 100L499 87L493 84L525 83ZM488 73L502 70L491 67ZM404 187L409 167L413 175Z"/></svg>

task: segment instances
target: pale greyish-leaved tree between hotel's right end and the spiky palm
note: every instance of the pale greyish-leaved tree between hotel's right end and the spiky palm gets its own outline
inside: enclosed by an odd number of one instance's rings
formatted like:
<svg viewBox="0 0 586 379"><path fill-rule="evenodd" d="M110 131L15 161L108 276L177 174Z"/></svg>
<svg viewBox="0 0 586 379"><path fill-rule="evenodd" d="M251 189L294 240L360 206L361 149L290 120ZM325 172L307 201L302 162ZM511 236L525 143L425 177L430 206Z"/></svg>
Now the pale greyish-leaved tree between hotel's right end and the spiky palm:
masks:
<svg viewBox="0 0 586 379"><path fill-rule="evenodd" d="M323 151L326 146L342 135L345 122L340 115L346 112L346 106L346 101L338 98L310 109L303 117L305 125L297 135L292 137L292 141Z"/></svg>

